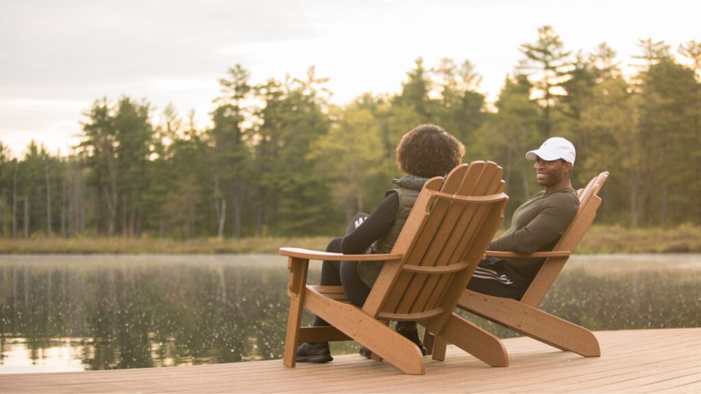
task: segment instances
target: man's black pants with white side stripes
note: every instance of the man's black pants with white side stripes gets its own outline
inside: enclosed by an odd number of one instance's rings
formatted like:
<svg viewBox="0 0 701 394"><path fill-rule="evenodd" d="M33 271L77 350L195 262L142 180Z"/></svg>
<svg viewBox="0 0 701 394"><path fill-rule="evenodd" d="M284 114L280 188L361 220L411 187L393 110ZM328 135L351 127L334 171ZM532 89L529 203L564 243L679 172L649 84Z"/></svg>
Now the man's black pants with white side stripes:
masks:
<svg viewBox="0 0 701 394"><path fill-rule="evenodd" d="M479 266L468 283L469 290L512 299L521 299L527 288L528 283L524 280L506 276L504 261L496 257L487 257L479 261Z"/></svg>

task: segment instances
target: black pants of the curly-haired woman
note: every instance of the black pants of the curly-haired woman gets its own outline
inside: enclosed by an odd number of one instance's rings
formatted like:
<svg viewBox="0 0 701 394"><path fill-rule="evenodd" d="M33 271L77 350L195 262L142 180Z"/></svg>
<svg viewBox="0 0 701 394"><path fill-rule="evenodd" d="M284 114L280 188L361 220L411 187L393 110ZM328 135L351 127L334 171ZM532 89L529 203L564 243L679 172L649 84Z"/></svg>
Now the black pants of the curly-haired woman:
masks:
<svg viewBox="0 0 701 394"><path fill-rule="evenodd" d="M367 214L359 213L348 224L346 234L355 229L355 221L362 218L367 218ZM343 238L334 238L326 247L327 252L341 253L341 240ZM365 304L367 296L370 294L370 287L360 280L358 276L358 264L360 261L327 261L324 260L321 266L321 281L322 286L343 286L343 292L346 292L348 301L351 301L355 306ZM313 326L329 325L319 316L314 318Z"/></svg>

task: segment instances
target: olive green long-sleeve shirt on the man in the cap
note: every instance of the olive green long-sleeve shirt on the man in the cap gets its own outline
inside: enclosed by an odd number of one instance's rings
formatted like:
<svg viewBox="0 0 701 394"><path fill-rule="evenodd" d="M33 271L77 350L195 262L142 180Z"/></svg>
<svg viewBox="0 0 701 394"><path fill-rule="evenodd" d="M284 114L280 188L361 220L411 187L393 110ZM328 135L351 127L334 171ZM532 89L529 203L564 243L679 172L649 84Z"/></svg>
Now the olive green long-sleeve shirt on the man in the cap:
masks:
<svg viewBox="0 0 701 394"><path fill-rule="evenodd" d="M489 243L489 250L529 254L552 250L579 208L579 198L571 187L553 193L540 193L517 208L511 227ZM545 259L504 258L509 278L531 283ZM514 275L516 274L516 275Z"/></svg>

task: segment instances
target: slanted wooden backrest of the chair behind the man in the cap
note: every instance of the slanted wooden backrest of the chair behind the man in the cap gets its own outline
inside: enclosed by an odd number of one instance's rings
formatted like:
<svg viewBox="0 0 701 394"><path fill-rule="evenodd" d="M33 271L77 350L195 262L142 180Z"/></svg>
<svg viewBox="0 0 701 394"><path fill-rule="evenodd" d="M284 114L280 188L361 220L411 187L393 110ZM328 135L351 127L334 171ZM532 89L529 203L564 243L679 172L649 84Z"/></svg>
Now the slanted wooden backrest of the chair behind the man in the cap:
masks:
<svg viewBox="0 0 701 394"><path fill-rule="evenodd" d="M607 178L608 172L601 172L592 178L584 189L577 191L579 209L560 240L552 248L553 252L574 252L587 229L594 222L594 218L597 217L597 210L599 205L601 205L599 191L601 186L604 186ZM552 283L554 283L568 259L569 257L548 257L545 259L543 266L540 267L536 278L533 278L533 282L531 282L521 301L533 307L540 305L540 301L543 301L545 294L550 290Z"/></svg>

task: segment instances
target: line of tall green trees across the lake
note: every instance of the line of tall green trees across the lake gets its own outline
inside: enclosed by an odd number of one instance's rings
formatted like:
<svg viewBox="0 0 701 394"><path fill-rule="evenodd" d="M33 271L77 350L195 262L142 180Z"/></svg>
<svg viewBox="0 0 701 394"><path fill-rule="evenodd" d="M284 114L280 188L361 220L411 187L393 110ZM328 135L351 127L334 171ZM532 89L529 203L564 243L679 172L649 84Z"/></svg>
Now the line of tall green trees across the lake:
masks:
<svg viewBox="0 0 701 394"><path fill-rule="evenodd" d="M540 189L525 152L558 135L577 148L576 188L611 172L599 222L701 224L701 43L641 40L632 75L606 43L572 53L549 26L519 50L494 103L474 64L448 58L418 58L400 92L343 105L314 67L252 84L236 64L206 128L172 105L154 121L147 100L95 100L67 156L32 142L17 158L0 143L0 235L339 233L392 188L397 142L420 123L461 140L466 162L503 166L509 217Z"/></svg>

